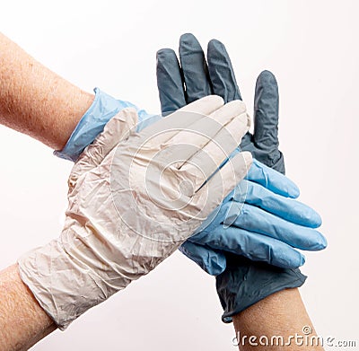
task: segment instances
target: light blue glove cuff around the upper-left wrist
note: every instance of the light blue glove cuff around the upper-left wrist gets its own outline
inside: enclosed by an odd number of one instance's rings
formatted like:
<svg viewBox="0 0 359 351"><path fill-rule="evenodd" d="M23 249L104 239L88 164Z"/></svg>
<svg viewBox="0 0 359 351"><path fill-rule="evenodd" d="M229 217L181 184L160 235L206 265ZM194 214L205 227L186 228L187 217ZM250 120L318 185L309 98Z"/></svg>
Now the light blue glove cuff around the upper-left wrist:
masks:
<svg viewBox="0 0 359 351"><path fill-rule="evenodd" d="M137 131L161 118L161 116L150 115L145 110L138 109L131 102L116 100L106 92L101 92L99 88L95 88L93 91L95 98L92 105L74 128L65 147L61 151L54 152L56 156L75 162L83 149L92 144L96 136L102 132L109 119L127 107L135 108L138 113Z"/></svg>

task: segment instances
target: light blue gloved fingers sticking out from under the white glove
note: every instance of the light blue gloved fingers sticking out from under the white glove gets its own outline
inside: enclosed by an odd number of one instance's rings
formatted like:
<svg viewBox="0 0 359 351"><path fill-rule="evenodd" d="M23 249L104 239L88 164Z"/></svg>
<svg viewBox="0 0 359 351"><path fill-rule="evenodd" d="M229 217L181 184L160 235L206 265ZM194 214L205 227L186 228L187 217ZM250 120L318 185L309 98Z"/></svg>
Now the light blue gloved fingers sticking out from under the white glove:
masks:
<svg viewBox="0 0 359 351"><path fill-rule="evenodd" d="M180 251L212 275L226 267L222 250L281 268L302 266L305 259L293 247L322 250L327 241L313 229L320 226L320 215L293 199L298 196L291 180L253 160L246 180Z"/></svg>

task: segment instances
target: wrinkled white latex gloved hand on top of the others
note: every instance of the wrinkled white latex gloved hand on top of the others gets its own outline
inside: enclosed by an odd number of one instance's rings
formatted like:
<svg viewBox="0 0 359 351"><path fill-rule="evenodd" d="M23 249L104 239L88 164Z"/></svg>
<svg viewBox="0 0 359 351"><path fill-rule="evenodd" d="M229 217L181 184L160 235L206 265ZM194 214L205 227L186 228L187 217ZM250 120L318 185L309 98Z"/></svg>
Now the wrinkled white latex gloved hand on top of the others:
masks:
<svg viewBox="0 0 359 351"><path fill-rule="evenodd" d="M231 155L250 127L241 101L206 97L141 133L137 122L134 109L110 119L74 164L60 237L18 261L60 329L171 255L250 167L250 153Z"/></svg>

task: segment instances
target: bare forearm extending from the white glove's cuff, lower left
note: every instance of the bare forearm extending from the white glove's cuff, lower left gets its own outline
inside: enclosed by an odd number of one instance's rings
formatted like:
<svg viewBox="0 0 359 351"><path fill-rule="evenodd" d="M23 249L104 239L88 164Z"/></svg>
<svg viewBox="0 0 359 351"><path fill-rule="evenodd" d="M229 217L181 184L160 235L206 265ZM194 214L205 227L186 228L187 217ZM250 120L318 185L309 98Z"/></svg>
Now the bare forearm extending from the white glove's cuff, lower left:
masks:
<svg viewBox="0 0 359 351"><path fill-rule="evenodd" d="M31 291L22 283L17 265L0 272L0 350L27 350L56 329Z"/></svg>

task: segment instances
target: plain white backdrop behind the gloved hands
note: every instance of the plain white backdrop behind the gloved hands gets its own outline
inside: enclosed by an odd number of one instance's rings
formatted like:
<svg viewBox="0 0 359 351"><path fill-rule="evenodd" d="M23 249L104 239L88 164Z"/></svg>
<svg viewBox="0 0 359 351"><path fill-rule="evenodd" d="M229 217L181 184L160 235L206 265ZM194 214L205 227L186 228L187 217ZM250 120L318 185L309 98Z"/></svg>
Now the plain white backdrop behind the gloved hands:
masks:
<svg viewBox="0 0 359 351"><path fill-rule="evenodd" d="M276 74L280 148L328 249L308 253L302 297L318 333L358 337L359 3L356 1L2 1L0 31L57 74L159 112L155 53L193 32L220 39L249 109ZM0 127L0 268L57 237L71 163ZM179 252L34 350L233 350L215 279ZM258 320L260 322L260 320ZM299 330L300 332L300 330ZM358 344L357 344L358 345ZM354 349L354 348L351 348Z"/></svg>

